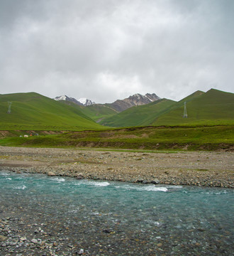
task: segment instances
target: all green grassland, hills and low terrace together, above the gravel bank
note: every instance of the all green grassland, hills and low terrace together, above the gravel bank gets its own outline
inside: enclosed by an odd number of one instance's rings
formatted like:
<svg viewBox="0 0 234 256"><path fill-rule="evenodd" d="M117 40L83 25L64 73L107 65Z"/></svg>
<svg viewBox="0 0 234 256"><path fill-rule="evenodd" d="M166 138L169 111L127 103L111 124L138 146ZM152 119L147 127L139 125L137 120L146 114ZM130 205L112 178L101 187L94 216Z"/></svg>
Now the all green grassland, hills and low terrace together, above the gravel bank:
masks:
<svg viewBox="0 0 234 256"><path fill-rule="evenodd" d="M106 105L81 107L35 92L0 95L0 145L232 151L233 102L233 93L212 89L179 102L162 99L116 114ZM94 122L99 119L100 124Z"/></svg>

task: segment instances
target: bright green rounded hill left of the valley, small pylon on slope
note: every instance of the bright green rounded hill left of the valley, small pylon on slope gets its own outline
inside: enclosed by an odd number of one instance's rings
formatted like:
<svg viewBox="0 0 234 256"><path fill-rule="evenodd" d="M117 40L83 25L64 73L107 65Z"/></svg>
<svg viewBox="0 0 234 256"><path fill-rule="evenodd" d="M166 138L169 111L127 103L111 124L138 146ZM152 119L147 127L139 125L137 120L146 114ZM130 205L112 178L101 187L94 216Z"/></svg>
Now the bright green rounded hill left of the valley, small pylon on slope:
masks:
<svg viewBox="0 0 234 256"><path fill-rule="evenodd" d="M11 114L7 114L11 102ZM71 102L72 103L72 102ZM57 102L35 92L0 95L0 129L102 129L78 105Z"/></svg>

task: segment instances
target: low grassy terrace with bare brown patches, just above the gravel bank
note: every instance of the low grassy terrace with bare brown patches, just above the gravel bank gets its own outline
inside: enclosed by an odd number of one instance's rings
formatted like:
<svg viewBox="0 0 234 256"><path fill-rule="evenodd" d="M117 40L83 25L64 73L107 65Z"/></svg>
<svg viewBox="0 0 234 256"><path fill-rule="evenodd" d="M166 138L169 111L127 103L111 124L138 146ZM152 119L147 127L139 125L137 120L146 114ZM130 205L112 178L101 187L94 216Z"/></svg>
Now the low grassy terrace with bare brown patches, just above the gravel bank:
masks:
<svg viewBox="0 0 234 256"><path fill-rule="evenodd" d="M0 139L2 146L91 147L111 149L233 150L233 126L131 127L54 136Z"/></svg>

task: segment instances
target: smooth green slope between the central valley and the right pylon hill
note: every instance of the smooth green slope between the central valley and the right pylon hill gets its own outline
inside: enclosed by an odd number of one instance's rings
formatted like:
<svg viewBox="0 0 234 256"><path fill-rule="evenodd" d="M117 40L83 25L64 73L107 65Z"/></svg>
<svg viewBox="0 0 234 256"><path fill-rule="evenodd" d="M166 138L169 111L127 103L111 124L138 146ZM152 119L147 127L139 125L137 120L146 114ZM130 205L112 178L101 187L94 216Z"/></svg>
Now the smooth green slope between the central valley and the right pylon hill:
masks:
<svg viewBox="0 0 234 256"><path fill-rule="evenodd" d="M146 126L173 104L173 100L162 99L147 105L130 107L128 110L101 120L100 124L108 127Z"/></svg>

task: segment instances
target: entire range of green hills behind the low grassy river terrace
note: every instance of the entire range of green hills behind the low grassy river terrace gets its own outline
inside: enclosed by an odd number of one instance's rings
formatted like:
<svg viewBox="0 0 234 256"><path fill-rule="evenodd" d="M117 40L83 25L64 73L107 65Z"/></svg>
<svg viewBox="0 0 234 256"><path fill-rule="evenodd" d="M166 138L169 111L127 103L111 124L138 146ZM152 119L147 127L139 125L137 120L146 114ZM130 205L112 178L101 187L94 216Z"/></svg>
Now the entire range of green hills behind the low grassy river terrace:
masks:
<svg viewBox="0 0 234 256"><path fill-rule="evenodd" d="M11 102L11 114L7 114ZM184 102L188 117L183 117ZM116 112L106 105L81 107L35 92L0 95L0 130L87 130L108 127L234 124L234 94L196 91L179 102L161 99ZM97 124L96 122L99 122ZM102 124L102 125L101 125Z"/></svg>

